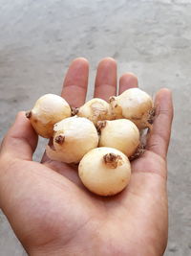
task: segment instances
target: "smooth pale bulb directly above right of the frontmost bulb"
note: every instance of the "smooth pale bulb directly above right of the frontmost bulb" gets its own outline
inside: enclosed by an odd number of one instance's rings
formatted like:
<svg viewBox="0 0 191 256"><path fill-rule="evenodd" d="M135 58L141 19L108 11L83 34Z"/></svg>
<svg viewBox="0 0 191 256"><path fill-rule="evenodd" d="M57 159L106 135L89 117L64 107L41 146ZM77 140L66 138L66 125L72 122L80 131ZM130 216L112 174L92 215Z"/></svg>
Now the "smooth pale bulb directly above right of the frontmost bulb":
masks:
<svg viewBox="0 0 191 256"><path fill-rule="evenodd" d="M128 157L137 150L139 131L130 120L99 121L97 127L100 132L99 147L115 148Z"/></svg>

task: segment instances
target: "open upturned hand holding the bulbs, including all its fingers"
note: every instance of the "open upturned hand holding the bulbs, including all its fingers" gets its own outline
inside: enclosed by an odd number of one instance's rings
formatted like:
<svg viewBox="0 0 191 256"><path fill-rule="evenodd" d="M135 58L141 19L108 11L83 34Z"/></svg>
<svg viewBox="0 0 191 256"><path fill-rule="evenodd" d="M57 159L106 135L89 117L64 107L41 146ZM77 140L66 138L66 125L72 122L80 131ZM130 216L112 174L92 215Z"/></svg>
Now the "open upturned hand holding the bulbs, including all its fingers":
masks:
<svg viewBox="0 0 191 256"><path fill-rule="evenodd" d="M84 104L89 64L76 58L66 75L62 96ZM119 80L119 93L137 87L132 74ZM100 61L95 97L117 92L117 64ZM157 117L147 150L132 162L130 185L115 197L101 198L83 187L77 167L45 155L32 161L37 135L20 112L0 151L0 206L30 255L162 255L167 243L166 153L173 106L171 92L159 90Z"/></svg>

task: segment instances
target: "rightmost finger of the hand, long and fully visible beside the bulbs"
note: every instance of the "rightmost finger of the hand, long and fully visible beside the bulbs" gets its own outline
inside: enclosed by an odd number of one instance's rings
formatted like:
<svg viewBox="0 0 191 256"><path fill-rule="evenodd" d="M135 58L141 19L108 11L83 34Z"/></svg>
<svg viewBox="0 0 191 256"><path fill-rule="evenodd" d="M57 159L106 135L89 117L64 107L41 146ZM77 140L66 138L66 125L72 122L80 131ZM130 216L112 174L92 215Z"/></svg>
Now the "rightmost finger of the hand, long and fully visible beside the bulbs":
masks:
<svg viewBox="0 0 191 256"><path fill-rule="evenodd" d="M156 119L148 139L148 150L154 151L161 157L165 158L171 134L173 120L173 102L172 93L168 89L159 90L155 106Z"/></svg>

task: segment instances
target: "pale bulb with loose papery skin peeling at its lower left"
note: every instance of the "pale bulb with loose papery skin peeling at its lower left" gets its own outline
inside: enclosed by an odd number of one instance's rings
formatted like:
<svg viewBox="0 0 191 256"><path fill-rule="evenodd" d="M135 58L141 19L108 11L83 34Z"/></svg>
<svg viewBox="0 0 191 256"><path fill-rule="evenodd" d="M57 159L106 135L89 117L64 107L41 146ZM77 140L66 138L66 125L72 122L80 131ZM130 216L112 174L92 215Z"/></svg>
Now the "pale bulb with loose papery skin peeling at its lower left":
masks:
<svg viewBox="0 0 191 256"><path fill-rule="evenodd" d="M53 127L53 148L47 146L49 158L65 163L78 163L88 151L98 145L94 124L83 117L70 117Z"/></svg>

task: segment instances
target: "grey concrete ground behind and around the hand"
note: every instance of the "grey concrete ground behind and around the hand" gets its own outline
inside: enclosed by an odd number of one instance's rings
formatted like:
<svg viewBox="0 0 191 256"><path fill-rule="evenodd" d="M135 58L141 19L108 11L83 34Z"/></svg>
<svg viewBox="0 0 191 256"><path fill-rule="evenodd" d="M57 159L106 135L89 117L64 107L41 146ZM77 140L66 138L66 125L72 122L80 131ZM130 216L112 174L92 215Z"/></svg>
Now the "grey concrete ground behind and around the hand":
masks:
<svg viewBox="0 0 191 256"><path fill-rule="evenodd" d="M21 109L60 92L73 58L90 60L93 95L100 58L137 74L151 95L172 89L175 119L168 155L169 243L165 256L191 255L191 1L0 0L0 136ZM35 159L40 158L41 140ZM26 255L0 213L0 255Z"/></svg>

